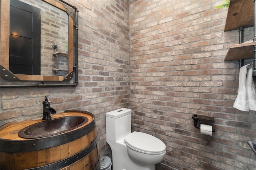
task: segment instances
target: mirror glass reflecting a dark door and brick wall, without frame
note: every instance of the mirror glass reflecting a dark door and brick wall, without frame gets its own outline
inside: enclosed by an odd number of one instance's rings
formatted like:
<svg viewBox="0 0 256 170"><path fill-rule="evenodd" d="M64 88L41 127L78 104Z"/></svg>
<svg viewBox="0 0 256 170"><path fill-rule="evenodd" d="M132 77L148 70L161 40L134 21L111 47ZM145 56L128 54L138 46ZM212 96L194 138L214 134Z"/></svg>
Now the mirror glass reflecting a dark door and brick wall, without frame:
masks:
<svg viewBox="0 0 256 170"><path fill-rule="evenodd" d="M61 54L56 55L56 44ZM66 75L68 15L43 1L10 0L9 50L14 74Z"/></svg>

